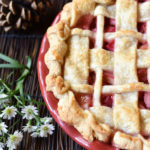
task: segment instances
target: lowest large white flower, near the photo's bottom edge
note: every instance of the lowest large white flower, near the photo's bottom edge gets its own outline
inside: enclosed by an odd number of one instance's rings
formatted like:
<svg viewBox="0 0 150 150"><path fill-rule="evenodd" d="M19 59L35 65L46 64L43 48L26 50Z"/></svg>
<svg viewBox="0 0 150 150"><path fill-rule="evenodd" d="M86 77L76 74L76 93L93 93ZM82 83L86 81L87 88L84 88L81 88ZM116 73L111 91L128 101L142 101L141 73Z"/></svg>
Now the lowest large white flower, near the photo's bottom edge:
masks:
<svg viewBox="0 0 150 150"><path fill-rule="evenodd" d="M14 134L10 135L7 140L7 147L9 150L16 149L17 145L22 141L23 135L19 131L15 131Z"/></svg>

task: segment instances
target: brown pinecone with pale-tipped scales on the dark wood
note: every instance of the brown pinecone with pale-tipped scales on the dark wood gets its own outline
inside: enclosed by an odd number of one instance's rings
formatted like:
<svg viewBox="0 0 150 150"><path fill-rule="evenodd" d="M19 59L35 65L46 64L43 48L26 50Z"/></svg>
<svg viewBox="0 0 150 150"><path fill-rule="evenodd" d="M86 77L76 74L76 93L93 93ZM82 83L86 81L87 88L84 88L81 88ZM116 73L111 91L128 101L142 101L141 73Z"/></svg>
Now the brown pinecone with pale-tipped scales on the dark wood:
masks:
<svg viewBox="0 0 150 150"><path fill-rule="evenodd" d="M0 0L0 26L23 29L38 23L51 7L50 0Z"/></svg>

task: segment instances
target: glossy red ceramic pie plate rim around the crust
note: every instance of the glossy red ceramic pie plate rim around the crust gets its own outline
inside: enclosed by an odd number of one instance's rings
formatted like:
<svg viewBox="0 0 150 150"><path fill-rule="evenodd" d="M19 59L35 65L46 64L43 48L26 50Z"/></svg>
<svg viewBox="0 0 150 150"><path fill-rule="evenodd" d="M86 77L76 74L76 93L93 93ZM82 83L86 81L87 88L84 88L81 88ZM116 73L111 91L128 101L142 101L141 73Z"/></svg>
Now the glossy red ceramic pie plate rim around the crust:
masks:
<svg viewBox="0 0 150 150"><path fill-rule="evenodd" d="M56 24L60 20L60 13L55 18L52 25ZM48 74L48 68L46 67L44 63L44 56L46 52L49 49L49 42L47 39L47 35L45 34L41 43L41 48L38 56L37 61L37 72L38 72L38 80L39 85L41 89L42 96L44 98L44 101L47 105L48 110L50 111L51 115L55 119L55 121L59 124L59 126L79 145L82 147L88 149L88 150L115 150L116 148L102 143L98 140L95 140L93 142L88 142L87 140L83 139L81 134L73 127L69 126L65 122L61 121L57 112L57 104L58 100L54 97L54 95L51 92L46 91L46 83L45 83L45 77Z"/></svg>

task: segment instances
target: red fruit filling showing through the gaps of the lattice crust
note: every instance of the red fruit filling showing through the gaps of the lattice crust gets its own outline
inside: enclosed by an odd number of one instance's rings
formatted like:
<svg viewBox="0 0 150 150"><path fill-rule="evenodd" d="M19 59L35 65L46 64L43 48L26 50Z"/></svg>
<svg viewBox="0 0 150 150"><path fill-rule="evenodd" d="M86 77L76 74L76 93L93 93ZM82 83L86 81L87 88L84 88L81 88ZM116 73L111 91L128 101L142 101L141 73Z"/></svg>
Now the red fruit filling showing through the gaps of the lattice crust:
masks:
<svg viewBox="0 0 150 150"><path fill-rule="evenodd" d="M138 0L139 2L145 2L145 0ZM76 26L76 28L81 29L88 29L93 32L96 32L96 17L93 15L87 14L82 16ZM145 33L146 32L146 23L140 22L137 25L138 32ZM104 32L115 32L115 20L109 19L105 17L105 26ZM114 51L114 40L104 41L103 48L108 51ZM90 38L90 48L95 47L95 39ZM148 44L146 41L139 41L138 48L139 49L147 49ZM140 82L148 83L147 80L147 69L138 69L137 71L138 78ZM88 78L88 84L94 85L95 84L96 75L95 72L91 71ZM103 72L103 85L112 85L114 82L114 77L112 72L104 71ZM76 93L75 97L79 103L79 105L83 109L88 109L92 107L93 100L92 94L83 94L83 93ZM104 106L112 107L113 105L113 95L102 95L101 96L101 103ZM140 108L150 108L150 92L139 92L139 107Z"/></svg>

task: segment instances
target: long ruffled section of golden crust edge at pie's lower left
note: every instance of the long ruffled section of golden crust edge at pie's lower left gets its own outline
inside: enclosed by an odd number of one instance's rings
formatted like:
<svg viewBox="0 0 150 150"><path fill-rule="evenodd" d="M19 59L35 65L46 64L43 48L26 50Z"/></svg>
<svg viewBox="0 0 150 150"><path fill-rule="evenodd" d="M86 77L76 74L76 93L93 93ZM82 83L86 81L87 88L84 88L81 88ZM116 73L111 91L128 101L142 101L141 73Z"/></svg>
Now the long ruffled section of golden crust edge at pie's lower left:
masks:
<svg viewBox="0 0 150 150"><path fill-rule="evenodd" d="M111 129L107 125L97 124L92 113L79 106L72 92L64 94L59 100L58 113L63 121L74 125L85 139L93 141L95 136L104 142L109 140Z"/></svg>

